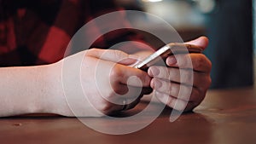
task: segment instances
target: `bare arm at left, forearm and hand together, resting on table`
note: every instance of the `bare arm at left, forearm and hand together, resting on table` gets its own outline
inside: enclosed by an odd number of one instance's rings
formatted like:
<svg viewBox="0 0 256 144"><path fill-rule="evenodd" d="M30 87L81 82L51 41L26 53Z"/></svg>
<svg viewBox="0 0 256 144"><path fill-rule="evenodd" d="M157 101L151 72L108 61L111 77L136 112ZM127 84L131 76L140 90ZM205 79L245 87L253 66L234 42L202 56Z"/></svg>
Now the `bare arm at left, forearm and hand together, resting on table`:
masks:
<svg viewBox="0 0 256 144"><path fill-rule="evenodd" d="M122 110L123 106L115 105L108 99L122 101L123 98L117 93L127 89L125 85L131 76L137 76L142 80L143 86L149 86L150 78L147 72L128 66L136 60L130 59L124 52L104 49L90 49L86 54L84 52L65 58L70 66L66 69L70 73L68 86L74 89L72 95L66 96L71 96L69 98L78 96L79 99L73 101L73 105L79 116L98 117ZM73 72L73 66L81 64L78 58L84 59L80 76ZM45 66L0 68L0 117L26 113L55 113L73 117L74 114L67 105L67 97L62 89L62 62L63 60L60 60ZM96 66L99 63L102 68ZM96 71L102 72L102 78L95 77ZM75 83L80 82L80 79L83 87L89 89L85 90L85 94L77 93L78 89L73 87ZM97 88L97 84L102 84L102 87ZM141 89L142 86L132 81L131 85L137 89ZM84 95L90 101L86 101ZM138 101L134 101L131 107L134 107Z"/></svg>

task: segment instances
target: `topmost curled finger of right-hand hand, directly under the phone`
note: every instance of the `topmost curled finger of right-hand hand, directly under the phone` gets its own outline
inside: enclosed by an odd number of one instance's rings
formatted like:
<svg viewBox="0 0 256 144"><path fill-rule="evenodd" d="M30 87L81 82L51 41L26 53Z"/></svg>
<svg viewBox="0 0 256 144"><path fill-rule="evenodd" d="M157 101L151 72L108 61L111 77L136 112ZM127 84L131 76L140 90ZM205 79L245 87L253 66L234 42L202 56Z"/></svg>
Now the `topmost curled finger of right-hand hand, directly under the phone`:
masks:
<svg viewBox="0 0 256 144"><path fill-rule="evenodd" d="M211 72L212 63L203 54L172 55L166 59L167 66L190 68L197 72Z"/></svg>

